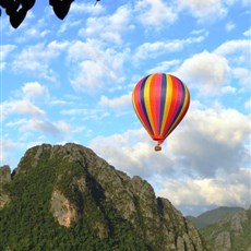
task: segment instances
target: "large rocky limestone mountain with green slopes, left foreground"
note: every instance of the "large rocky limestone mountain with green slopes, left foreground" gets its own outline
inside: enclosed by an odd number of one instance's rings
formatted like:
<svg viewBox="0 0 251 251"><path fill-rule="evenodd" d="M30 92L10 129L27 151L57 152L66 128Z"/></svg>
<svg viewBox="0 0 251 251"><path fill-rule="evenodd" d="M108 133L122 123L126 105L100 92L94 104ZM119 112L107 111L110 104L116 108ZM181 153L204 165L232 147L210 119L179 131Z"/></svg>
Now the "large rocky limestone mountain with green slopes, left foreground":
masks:
<svg viewBox="0 0 251 251"><path fill-rule="evenodd" d="M0 250L208 250L147 181L72 143L0 169Z"/></svg>

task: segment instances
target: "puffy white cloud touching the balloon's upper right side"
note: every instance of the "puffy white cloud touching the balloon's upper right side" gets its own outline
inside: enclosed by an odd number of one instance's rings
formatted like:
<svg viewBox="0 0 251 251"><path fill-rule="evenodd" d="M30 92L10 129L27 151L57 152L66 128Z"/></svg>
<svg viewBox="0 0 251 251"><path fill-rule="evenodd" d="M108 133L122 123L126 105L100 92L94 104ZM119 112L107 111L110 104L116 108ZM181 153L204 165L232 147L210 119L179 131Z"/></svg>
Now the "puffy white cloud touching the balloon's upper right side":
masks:
<svg viewBox="0 0 251 251"><path fill-rule="evenodd" d="M225 84L229 73L228 61L216 53L203 51L184 60L177 70L177 75L199 89L202 95L216 94Z"/></svg>

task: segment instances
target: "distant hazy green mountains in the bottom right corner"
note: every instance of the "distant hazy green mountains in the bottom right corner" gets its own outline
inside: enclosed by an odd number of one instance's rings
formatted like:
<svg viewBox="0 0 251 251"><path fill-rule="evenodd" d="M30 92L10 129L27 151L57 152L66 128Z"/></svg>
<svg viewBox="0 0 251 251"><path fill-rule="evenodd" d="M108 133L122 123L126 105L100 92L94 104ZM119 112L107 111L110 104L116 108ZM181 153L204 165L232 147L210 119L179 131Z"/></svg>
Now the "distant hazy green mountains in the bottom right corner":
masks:
<svg viewBox="0 0 251 251"><path fill-rule="evenodd" d="M218 207L188 216L215 251L251 251L251 207Z"/></svg>

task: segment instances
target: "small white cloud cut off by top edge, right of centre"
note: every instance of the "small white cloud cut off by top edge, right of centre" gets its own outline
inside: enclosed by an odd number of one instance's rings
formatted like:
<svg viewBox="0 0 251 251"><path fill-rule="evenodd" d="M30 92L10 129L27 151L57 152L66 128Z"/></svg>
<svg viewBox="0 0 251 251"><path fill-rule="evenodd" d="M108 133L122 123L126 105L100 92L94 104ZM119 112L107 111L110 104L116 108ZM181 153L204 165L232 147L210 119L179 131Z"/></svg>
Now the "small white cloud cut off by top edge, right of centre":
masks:
<svg viewBox="0 0 251 251"><path fill-rule="evenodd" d="M135 5L136 16L146 27L165 27L177 20L177 13L165 1L162 0L140 0Z"/></svg>

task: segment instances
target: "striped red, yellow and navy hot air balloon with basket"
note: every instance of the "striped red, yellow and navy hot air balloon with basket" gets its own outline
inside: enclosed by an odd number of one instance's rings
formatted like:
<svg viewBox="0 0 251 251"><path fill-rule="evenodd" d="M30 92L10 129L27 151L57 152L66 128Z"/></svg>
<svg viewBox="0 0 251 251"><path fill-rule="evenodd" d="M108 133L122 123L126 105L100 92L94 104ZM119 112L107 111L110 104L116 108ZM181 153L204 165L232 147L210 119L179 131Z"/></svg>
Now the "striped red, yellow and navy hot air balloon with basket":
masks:
<svg viewBox="0 0 251 251"><path fill-rule="evenodd" d="M188 111L190 94L177 76L154 73L141 79L133 88L132 103L141 123L162 150L165 139Z"/></svg>

